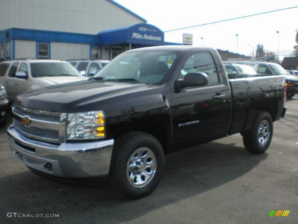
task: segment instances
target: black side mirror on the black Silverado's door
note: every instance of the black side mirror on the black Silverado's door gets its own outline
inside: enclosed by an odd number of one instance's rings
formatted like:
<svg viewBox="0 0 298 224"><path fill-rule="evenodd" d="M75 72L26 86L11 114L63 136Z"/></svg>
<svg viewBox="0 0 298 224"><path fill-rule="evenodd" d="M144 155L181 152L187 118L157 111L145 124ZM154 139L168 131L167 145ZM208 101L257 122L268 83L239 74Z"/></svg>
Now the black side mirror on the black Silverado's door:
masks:
<svg viewBox="0 0 298 224"><path fill-rule="evenodd" d="M202 72L188 73L184 76L184 79L176 80L177 88L183 89L186 87L196 87L208 84L208 76Z"/></svg>

